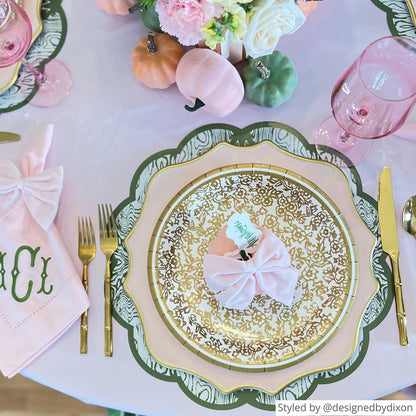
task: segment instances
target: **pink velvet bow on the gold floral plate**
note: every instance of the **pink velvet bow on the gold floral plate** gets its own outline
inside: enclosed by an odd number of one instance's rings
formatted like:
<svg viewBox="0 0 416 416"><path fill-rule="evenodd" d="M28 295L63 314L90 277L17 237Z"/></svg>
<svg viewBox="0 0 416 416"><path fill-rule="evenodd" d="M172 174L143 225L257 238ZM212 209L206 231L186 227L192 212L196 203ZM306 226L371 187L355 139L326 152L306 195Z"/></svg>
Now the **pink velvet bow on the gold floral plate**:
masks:
<svg viewBox="0 0 416 416"><path fill-rule="evenodd" d="M231 253L232 254L232 253ZM272 232L267 231L253 257L247 261L207 254L204 276L218 302L231 309L245 309L254 295L265 293L291 305L298 272L290 266L290 255Z"/></svg>

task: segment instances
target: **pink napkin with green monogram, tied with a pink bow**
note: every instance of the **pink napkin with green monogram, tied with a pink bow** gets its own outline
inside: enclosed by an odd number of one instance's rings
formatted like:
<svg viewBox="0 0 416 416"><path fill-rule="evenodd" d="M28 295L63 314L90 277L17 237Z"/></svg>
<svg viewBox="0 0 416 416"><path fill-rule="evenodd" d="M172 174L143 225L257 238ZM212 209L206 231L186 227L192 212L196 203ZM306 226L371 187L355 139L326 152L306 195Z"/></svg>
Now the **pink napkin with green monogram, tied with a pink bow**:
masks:
<svg viewBox="0 0 416 416"><path fill-rule="evenodd" d="M0 160L0 370L13 377L89 307L88 296L53 224L62 168L44 169L53 126L21 169Z"/></svg>

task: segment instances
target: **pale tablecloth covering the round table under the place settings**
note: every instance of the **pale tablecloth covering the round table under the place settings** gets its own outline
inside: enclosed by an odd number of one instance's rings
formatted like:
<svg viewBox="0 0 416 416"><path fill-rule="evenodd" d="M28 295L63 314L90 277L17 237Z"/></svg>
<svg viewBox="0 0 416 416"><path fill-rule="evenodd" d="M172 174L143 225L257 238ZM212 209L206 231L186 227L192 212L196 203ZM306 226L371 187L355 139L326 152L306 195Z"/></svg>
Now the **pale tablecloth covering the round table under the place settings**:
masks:
<svg viewBox="0 0 416 416"><path fill-rule="evenodd" d="M185 99L175 86L151 90L133 77L130 53L147 33L137 16L107 15L93 1L65 1L63 6L68 36L59 58L72 72L72 93L56 108L27 105L1 115L0 130L20 131L23 138L1 144L0 152L13 159L27 143L31 127L36 123L55 125L48 165L62 165L65 172L56 224L80 272L77 217L91 216L98 231L97 203L117 206L124 200L131 178L145 158L176 147L199 126L218 122L244 127L278 121L310 140L330 113L330 92L337 78L369 43L390 34L386 14L370 0L325 0L298 32L279 43L299 75L290 102L267 109L245 100L232 114L218 119L204 111L185 111ZM358 166L364 191L375 198L381 169L390 166L398 226L404 203L416 194L415 158L416 142L391 136L374 141L368 159ZM339 382L319 385L312 399L377 398L416 382L416 241L398 228L410 346L399 346L393 307L371 331L368 352L358 369ZM78 352L79 325L75 324L23 374L87 403L149 415L214 414L190 400L176 383L144 372L130 352L126 330L118 324L113 328L114 356L104 357L104 261L97 250L89 268L88 355ZM265 412L245 405L224 413L253 416Z"/></svg>

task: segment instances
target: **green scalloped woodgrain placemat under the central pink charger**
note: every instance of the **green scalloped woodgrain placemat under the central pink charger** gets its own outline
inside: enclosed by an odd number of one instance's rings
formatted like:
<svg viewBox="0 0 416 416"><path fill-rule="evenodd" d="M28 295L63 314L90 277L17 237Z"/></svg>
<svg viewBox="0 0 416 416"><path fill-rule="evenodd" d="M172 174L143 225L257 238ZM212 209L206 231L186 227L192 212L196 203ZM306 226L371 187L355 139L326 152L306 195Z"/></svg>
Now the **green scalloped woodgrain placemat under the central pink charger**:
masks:
<svg viewBox="0 0 416 416"><path fill-rule="evenodd" d="M198 128L188 134L176 149L168 149L146 159L137 169L130 186L130 195L115 210L119 230L119 247L112 257L111 282L113 316L128 330L131 351L138 364L149 374L160 380L176 382L183 392L202 406L212 409L231 409L248 403L264 410L274 410L275 400L306 399L319 384L333 383L351 374L363 360L369 343L369 332L385 317L393 300L391 272L386 263L386 255L381 249L376 201L364 193L357 170L343 169L357 212L369 230L376 237L371 266L379 283L379 290L368 305L357 348L352 357L341 367L324 371L296 380L277 394L268 394L255 389L242 389L223 393L208 381L186 371L166 367L156 361L149 353L144 339L139 313L124 290L124 281L129 269L129 255L124 240L140 216L146 189L151 178L166 166L193 160L211 150L217 144L226 142L234 146L249 147L269 141L279 148L304 159L318 160L315 147L295 129L276 122L252 124L243 129L227 125L212 124ZM338 152L328 149L327 159L339 166L348 161Z"/></svg>

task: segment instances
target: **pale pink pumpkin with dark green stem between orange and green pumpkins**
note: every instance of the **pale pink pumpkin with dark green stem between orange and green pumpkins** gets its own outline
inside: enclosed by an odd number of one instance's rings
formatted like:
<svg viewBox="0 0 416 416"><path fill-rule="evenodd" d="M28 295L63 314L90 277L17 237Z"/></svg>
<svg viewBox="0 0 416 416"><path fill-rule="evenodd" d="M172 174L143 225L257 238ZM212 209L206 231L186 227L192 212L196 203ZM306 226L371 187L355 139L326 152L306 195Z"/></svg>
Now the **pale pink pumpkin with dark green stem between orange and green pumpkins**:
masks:
<svg viewBox="0 0 416 416"><path fill-rule="evenodd" d="M194 48L186 52L176 68L179 91L194 103L195 111L205 109L223 117L234 111L244 97L244 85L235 67L211 49Z"/></svg>

